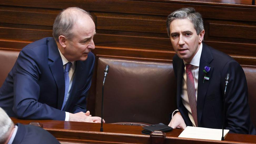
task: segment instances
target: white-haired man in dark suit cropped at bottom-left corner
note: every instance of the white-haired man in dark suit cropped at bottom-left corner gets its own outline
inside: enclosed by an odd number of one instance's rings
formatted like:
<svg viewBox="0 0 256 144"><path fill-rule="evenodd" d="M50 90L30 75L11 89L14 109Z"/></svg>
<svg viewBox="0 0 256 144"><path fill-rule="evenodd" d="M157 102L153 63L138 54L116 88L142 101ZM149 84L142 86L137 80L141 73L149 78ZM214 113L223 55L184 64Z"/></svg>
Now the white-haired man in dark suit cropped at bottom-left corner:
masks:
<svg viewBox="0 0 256 144"><path fill-rule="evenodd" d="M17 123L15 126L0 107L0 143L1 144L57 144L58 140L41 127L32 125L22 125Z"/></svg>

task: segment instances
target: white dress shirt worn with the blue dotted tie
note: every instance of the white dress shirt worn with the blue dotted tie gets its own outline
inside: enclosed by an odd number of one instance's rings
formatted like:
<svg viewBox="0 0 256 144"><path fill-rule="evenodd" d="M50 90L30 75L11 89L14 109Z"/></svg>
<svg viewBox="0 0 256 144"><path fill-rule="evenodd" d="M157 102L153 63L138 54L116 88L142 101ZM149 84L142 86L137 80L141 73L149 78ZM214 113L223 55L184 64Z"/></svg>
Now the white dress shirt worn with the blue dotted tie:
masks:
<svg viewBox="0 0 256 144"><path fill-rule="evenodd" d="M58 50L59 50L60 55L61 55L61 59L62 59L62 63L63 63L63 73L64 73L65 64L67 64L69 61L63 56L60 49L58 49ZM72 83L73 83L73 78L74 78L74 72L75 72L75 69L76 69L75 62L71 62L71 63L72 63L72 66L70 67L70 70L69 70L69 73L68 73L70 83L69 83L68 96L67 96L66 101L68 100L68 97L69 97L69 94L70 94L70 89L71 89L71 86L72 86ZM65 121L68 121L69 120L69 112L65 112L65 113L66 113Z"/></svg>

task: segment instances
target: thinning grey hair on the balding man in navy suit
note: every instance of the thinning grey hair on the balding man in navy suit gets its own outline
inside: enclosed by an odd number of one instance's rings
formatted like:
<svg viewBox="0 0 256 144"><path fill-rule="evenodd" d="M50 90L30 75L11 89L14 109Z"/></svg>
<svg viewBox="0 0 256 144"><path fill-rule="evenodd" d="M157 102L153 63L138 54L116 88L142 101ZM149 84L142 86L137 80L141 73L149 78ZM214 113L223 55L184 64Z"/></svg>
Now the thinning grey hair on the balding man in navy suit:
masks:
<svg viewBox="0 0 256 144"><path fill-rule="evenodd" d="M58 14L53 24L52 35L55 40L58 42L59 36L65 36L67 39L73 38L72 28L76 23L78 14L83 13L92 18L89 12L78 8L78 7L69 7L64 9Z"/></svg>

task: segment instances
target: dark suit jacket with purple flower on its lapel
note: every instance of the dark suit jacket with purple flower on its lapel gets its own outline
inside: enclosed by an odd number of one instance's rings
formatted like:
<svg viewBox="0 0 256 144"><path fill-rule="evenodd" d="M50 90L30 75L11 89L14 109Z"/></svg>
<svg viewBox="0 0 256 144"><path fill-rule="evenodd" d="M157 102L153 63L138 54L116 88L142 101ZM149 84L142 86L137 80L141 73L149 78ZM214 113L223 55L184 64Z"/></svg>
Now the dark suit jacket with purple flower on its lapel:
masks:
<svg viewBox="0 0 256 144"><path fill-rule="evenodd" d="M210 72L204 80L204 67ZM177 106L187 126L192 126L188 111L181 101L184 62L177 55L173 58L173 68L177 78ZM223 96L225 77L230 74L225 96L225 128L233 133L256 134L250 121L248 106L248 89L242 67L232 57L217 51L203 43L199 64L197 118L198 126L206 128L222 128Z"/></svg>

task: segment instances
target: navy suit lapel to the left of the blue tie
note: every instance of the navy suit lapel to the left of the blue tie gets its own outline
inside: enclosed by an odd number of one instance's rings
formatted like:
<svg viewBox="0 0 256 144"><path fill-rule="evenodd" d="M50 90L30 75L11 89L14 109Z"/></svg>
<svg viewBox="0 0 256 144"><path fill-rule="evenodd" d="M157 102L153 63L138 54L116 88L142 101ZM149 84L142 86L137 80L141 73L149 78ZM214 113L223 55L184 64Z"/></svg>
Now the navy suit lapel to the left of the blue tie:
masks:
<svg viewBox="0 0 256 144"><path fill-rule="evenodd" d="M58 47L54 39L51 39L48 44L48 59L49 67L52 72L52 76L58 87L58 105L57 108L61 110L64 93L65 93L65 79L64 79L64 69L63 62L58 51Z"/></svg>

